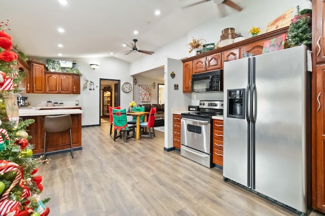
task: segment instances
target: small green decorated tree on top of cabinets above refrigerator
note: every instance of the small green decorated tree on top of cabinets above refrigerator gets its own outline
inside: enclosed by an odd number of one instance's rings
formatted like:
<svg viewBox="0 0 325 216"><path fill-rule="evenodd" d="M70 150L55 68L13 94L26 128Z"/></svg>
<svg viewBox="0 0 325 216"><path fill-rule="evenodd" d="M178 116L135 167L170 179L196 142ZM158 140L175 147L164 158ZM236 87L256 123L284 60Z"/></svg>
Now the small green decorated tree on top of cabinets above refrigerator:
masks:
<svg viewBox="0 0 325 216"><path fill-rule="evenodd" d="M287 42L288 47L294 47L299 45L306 45L311 47L311 29L309 26L310 17L301 18L299 6L297 6L297 14L294 19L291 20L291 24L288 28Z"/></svg>

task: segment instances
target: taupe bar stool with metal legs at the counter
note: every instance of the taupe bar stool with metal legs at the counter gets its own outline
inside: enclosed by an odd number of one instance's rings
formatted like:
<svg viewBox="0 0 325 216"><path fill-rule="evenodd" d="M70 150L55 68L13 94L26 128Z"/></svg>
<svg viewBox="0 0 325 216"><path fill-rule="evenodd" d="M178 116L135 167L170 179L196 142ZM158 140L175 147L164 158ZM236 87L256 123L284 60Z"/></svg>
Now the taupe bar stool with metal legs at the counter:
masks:
<svg viewBox="0 0 325 216"><path fill-rule="evenodd" d="M71 136L71 127L72 120L71 115L47 115L44 118L44 159L46 158L46 154L60 152L60 151L71 151L71 156L73 158L73 148L72 148L72 136ZM70 130L70 148L56 150L51 152L46 152L46 134L47 132L56 133L56 132L64 132Z"/></svg>

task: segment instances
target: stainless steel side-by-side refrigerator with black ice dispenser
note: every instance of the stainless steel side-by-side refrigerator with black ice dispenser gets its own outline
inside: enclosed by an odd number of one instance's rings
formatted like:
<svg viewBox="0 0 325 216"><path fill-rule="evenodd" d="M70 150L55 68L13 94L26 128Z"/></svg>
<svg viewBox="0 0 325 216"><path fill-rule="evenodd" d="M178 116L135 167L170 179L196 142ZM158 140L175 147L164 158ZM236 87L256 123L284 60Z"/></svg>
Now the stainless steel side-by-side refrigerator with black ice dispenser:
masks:
<svg viewBox="0 0 325 216"><path fill-rule="evenodd" d="M224 62L224 180L300 213L308 73L305 46Z"/></svg>

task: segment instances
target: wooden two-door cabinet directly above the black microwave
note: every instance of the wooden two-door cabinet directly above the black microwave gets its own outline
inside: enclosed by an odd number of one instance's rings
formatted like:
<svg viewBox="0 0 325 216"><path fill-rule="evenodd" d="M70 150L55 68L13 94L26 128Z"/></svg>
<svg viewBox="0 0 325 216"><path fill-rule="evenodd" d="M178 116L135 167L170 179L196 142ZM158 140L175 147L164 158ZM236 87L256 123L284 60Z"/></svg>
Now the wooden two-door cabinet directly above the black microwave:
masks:
<svg viewBox="0 0 325 216"><path fill-rule="evenodd" d="M221 53L194 59L192 63L192 73L202 73L221 68Z"/></svg>

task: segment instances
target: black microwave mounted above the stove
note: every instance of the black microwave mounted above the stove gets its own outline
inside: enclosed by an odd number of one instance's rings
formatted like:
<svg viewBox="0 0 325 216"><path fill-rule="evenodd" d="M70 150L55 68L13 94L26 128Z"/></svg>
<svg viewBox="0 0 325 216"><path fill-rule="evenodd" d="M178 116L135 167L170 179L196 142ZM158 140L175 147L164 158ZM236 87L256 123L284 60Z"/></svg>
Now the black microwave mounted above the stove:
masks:
<svg viewBox="0 0 325 216"><path fill-rule="evenodd" d="M220 92L222 88L222 70L192 74L192 92Z"/></svg>

